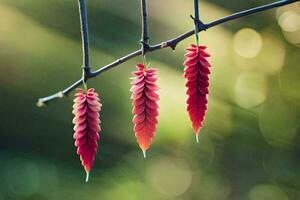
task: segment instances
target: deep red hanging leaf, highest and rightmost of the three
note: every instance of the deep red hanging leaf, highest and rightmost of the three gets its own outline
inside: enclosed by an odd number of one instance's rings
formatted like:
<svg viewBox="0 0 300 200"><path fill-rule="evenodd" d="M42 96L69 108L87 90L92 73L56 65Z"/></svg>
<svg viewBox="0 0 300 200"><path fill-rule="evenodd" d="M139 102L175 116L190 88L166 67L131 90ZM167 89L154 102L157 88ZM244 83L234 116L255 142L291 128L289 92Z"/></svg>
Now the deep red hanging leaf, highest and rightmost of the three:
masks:
<svg viewBox="0 0 300 200"><path fill-rule="evenodd" d="M184 62L185 86L187 87L187 111L198 142L199 130L207 111L207 96L209 86L210 64L207 57L210 55L204 50L206 46L191 45L186 48Z"/></svg>

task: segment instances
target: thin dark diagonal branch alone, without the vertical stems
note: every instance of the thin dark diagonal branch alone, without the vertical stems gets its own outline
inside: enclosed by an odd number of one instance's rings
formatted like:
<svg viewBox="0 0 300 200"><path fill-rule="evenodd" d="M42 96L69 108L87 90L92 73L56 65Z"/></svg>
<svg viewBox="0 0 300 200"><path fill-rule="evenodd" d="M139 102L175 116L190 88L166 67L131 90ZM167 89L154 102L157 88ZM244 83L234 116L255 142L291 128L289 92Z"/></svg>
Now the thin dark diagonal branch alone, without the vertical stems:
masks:
<svg viewBox="0 0 300 200"><path fill-rule="evenodd" d="M81 3L84 2L84 0L79 0L79 1ZM207 29L212 28L214 26L223 24L223 23L228 22L228 21L232 21L232 20L235 20L235 19L238 19L238 18L245 17L245 16L250 15L250 14L254 14L254 13L257 13L257 12L269 10L269 9L272 9L272 8L275 8L275 7L280 7L280 6L284 6L284 5L291 4L291 3L294 3L294 2L299 2L299 1L300 0L281 0L281 1L271 3L271 4L267 4L267 5L255 7L255 8L249 9L249 10L241 11L241 12L238 12L238 13L220 18L218 20L212 21L210 23L206 23L206 24L205 23L200 23L199 32L207 30ZM179 42L181 42L182 40L185 40L186 38L190 37L193 34L195 34L195 29L190 30L190 31L188 31L188 32L186 32L182 35L179 35L176 38L161 42L160 44L149 46L147 51L151 52L151 51L156 51L156 50L167 48L167 47L175 49L176 45ZM126 56L124 56L124 57L122 57L122 58L120 58L120 59L118 59L118 60L116 60L116 61L114 61L114 62L98 69L98 70L96 70L96 71L94 71L94 72L91 72L91 76L89 78L96 77L96 76L102 74L103 72L105 72L105 71L107 71L111 68L114 68L114 67L116 67L116 66L118 66L118 65L120 65L120 64L122 64L122 63L136 57L136 56L138 56L138 55L142 55L142 49L134 51L134 52L132 52L132 53L130 53L130 54L128 54L128 55L126 55ZM50 102L54 99L63 98L64 96L67 96L71 91L73 91L76 87L80 86L82 83L83 83L83 78L76 81L71 86L64 89L63 91L60 91L60 92L58 92L56 94L53 94L51 96L48 96L48 97L40 98L37 105L38 106L43 106L46 103L48 103L48 102Z"/></svg>

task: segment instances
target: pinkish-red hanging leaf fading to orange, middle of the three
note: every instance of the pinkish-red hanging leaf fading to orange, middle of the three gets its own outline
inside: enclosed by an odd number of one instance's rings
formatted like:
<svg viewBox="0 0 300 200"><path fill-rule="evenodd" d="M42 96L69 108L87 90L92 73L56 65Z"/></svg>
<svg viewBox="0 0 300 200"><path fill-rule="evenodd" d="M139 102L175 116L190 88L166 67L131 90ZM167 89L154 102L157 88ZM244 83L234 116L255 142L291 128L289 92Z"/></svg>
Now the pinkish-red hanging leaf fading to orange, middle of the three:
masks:
<svg viewBox="0 0 300 200"><path fill-rule="evenodd" d="M154 137L158 117L159 95L155 77L156 69L147 69L143 64L138 64L137 71L133 72L134 80L132 87L132 113L134 114L134 132L137 142L146 157L146 150L149 149Z"/></svg>

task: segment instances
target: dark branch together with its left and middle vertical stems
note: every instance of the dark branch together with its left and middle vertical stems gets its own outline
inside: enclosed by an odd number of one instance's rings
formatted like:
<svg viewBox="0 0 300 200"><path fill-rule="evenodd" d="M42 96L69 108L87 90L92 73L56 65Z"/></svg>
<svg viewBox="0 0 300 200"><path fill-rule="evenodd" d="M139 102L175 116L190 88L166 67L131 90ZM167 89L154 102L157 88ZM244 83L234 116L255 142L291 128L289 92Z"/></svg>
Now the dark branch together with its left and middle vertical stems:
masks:
<svg viewBox="0 0 300 200"><path fill-rule="evenodd" d="M40 98L38 103L37 103L38 106L44 106L44 105L46 105L46 103L48 103L48 102L50 102L54 99L63 98L64 96L67 96L75 88L77 88L78 86L83 84L83 81L87 81L90 78L94 78L94 77L102 74L103 72L105 72L107 70L110 70L114 67L117 67L120 64L122 64L122 63L136 57L136 56L142 55L145 52L156 51L156 50L167 48L167 47L175 49L178 43L180 43L182 40L185 40L188 37L195 34L195 29L193 29L193 30L190 30L190 31L188 31L188 32L186 32L182 35L179 35L178 37L173 38L173 39L161 42L161 43L156 44L156 45L149 45L148 44L149 36L148 36L148 30L147 30L146 1L141 0L142 3L145 3L144 7L143 7L143 4L142 4L142 9L143 8L145 9L144 11L142 11L142 14L143 14L142 16L143 16L143 19L144 19L143 20L143 38L142 38L142 41L147 41L146 48L143 45L141 49L136 50L132 53L129 53L128 55L126 55L122 58L119 58L118 60L116 60L116 61L114 61L114 62L112 62L108 65L105 65L105 66L101 67L100 69L92 72L90 70L90 66L89 66L88 26L87 26L87 13L86 13L85 0L78 0L78 1L79 1L80 19L81 19L81 28L82 28L82 38L83 38L83 51L84 51L83 52L83 54L84 54L84 56L83 56L83 62L84 62L83 68L84 68L84 71L85 71L84 76L81 79L79 79L78 81L76 81L75 83L73 83L68 88L64 89L64 90L59 91L59 92L57 92L57 93L55 93L51 96ZM299 1L300 0L281 0L281 1L277 1L277 2L274 2L274 3L267 4L267 5L251 8L249 10L244 10L244 11L241 11L241 12L237 12L237 13L234 13L232 15L229 15L229 16L217 19L215 21L212 21L210 23L202 23L200 21L200 23L198 23L198 26L199 26L198 27L198 32L205 31L205 30L207 30L209 28L212 28L214 26L217 26L217 25L220 25L220 24L223 24L225 22L232 21L232 20L235 20L235 19L238 19L238 18L242 18L242 17L248 16L248 15L254 14L254 13L258 13L258 12L261 12L261 11L269 10L269 9L272 9L272 8L284 6L284 5L291 4L291 3L294 3L294 2L299 2Z"/></svg>

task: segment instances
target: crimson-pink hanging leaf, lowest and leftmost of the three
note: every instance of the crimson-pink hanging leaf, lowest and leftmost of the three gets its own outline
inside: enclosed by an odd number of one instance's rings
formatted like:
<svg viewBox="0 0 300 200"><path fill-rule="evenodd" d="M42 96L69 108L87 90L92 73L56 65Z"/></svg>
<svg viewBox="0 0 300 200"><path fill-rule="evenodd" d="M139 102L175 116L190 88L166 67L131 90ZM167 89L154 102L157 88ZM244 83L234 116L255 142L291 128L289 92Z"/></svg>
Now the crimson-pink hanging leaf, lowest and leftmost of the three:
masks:
<svg viewBox="0 0 300 200"><path fill-rule="evenodd" d="M86 171L86 181L93 166L97 153L98 140L100 139L100 110L98 94L93 88L85 92L77 89L73 105L73 119L75 146L77 154L80 156L81 163Z"/></svg>

